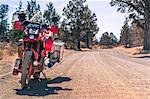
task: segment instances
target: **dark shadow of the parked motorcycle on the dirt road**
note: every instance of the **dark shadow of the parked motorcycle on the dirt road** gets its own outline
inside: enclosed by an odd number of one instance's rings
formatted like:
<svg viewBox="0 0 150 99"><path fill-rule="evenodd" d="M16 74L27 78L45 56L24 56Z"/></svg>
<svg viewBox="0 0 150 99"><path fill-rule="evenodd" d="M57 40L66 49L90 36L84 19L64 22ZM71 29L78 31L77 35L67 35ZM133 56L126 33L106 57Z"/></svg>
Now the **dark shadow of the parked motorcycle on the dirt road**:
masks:
<svg viewBox="0 0 150 99"><path fill-rule="evenodd" d="M27 89L14 89L16 90L17 95L28 95L28 96L47 96L47 95L55 95L58 94L57 91L72 91L69 88L62 87L49 87L48 84L58 84L66 81L70 81L69 77L57 77L51 81L47 81L45 79L34 80L31 79L29 88Z"/></svg>

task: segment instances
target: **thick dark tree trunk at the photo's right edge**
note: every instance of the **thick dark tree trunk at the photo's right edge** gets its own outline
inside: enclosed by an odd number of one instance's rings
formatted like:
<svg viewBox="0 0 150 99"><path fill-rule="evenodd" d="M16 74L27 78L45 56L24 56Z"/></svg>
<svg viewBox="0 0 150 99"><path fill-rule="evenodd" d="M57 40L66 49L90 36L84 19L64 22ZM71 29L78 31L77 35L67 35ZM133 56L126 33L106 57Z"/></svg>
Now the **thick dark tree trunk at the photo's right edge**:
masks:
<svg viewBox="0 0 150 99"><path fill-rule="evenodd" d="M148 2L149 3L149 2ZM145 9L145 26L144 26L144 50L150 50L150 14L149 14L149 8L150 4L146 9Z"/></svg>

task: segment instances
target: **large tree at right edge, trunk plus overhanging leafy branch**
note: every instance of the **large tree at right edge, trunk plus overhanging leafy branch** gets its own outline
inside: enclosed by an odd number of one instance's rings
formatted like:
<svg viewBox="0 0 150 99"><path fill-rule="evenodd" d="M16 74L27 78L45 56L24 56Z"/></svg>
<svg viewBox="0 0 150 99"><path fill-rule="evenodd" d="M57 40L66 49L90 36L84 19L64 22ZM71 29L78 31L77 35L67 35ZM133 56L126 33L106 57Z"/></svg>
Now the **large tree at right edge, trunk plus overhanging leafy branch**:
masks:
<svg viewBox="0 0 150 99"><path fill-rule="evenodd" d="M144 29L144 50L150 50L150 0L111 0L112 6L118 6L118 11L129 12L129 18L139 21L144 20L144 26L137 22Z"/></svg>

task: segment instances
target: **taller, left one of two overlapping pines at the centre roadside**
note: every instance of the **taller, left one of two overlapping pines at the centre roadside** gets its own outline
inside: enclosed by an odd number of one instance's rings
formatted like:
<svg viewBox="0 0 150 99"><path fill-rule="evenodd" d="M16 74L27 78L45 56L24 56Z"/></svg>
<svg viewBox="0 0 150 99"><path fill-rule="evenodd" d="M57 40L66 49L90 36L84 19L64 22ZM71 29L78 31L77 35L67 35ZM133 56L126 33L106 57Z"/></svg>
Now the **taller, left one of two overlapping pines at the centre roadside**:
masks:
<svg viewBox="0 0 150 99"><path fill-rule="evenodd" d="M73 36L73 43L75 44L74 49L80 50L80 34L82 32L82 20L81 13L84 8L83 0L72 0L69 1L67 7L63 9L63 15L68 31Z"/></svg>

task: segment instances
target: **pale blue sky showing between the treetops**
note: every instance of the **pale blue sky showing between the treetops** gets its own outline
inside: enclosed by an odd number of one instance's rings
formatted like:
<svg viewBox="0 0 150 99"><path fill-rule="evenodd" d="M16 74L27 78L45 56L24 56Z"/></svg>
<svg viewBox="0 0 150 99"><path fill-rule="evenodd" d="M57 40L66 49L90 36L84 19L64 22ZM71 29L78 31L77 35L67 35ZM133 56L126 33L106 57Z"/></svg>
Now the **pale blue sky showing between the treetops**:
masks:
<svg viewBox="0 0 150 99"><path fill-rule="evenodd" d="M20 0L0 0L0 4L8 4L9 12L8 19L11 22L12 14L16 11ZM23 8L26 8L28 0L21 0ZM41 10L44 11L46 3L49 1L53 2L56 11L61 15L62 10L68 4L69 0L36 0L41 6ZM113 32L114 35L119 39L120 30L124 24L125 14L117 12L117 7L110 6L111 0L86 0L86 3L93 13L96 13L97 24L100 28L97 38L99 38L104 32Z"/></svg>

